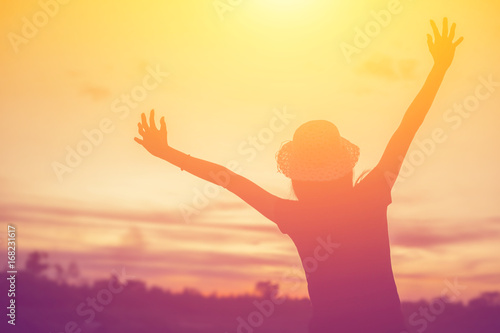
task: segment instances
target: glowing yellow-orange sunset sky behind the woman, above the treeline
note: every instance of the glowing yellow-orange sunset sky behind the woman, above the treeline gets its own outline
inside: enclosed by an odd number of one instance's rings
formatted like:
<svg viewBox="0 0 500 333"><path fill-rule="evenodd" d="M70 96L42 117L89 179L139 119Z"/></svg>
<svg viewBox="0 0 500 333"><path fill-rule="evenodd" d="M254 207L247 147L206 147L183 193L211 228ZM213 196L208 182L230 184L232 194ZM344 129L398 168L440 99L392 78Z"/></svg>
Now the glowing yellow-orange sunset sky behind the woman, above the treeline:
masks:
<svg viewBox="0 0 500 333"><path fill-rule="evenodd" d="M172 147L291 198L281 143L327 119L361 148L356 174L372 168L432 67L429 20L447 16L465 39L393 189L394 274L407 300L447 281L464 300L500 289L498 2L63 2L0 10L0 234L16 226L19 265L43 250L88 279L307 295L291 240L148 155L140 113L165 116Z"/></svg>

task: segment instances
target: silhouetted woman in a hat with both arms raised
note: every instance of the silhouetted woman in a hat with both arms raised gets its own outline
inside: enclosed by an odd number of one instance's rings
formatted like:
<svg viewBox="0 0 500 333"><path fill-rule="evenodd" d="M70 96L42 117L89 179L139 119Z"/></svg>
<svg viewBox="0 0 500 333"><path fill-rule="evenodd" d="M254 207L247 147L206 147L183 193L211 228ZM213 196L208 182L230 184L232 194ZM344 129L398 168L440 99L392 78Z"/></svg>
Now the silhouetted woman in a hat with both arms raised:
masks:
<svg viewBox="0 0 500 333"><path fill-rule="evenodd" d="M334 124L301 125L276 154L278 170L289 177L298 200L276 197L231 170L186 155L167 142L165 119L139 125L135 138L151 154L233 192L288 234L306 272L313 307L310 332L400 333L405 329L394 282L387 231L391 189L408 148L422 124L455 48L455 24L448 32L431 21L428 46L434 66L406 111L379 163L353 184L359 148Z"/></svg>

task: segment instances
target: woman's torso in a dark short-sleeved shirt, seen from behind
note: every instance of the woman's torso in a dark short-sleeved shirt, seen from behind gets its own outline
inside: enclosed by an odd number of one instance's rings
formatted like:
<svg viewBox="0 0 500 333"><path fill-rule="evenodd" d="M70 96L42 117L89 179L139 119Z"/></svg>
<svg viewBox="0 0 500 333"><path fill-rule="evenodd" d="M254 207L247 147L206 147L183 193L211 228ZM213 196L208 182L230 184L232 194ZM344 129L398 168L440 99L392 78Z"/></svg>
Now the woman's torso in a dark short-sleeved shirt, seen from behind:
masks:
<svg viewBox="0 0 500 333"><path fill-rule="evenodd" d="M387 230L391 197L384 190L368 178L329 204L286 200L276 207L278 226L303 263L313 322L345 332L344 326L367 322L384 329L400 325Z"/></svg>

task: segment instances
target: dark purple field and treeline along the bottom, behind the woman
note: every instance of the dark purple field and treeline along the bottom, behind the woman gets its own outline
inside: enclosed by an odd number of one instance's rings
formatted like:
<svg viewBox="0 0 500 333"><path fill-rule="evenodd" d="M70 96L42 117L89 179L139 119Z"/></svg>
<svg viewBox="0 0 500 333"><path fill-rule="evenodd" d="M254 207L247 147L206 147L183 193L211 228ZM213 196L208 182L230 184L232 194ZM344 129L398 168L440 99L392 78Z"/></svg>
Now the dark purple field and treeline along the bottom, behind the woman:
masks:
<svg viewBox="0 0 500 333"><path fill-rule="evenodd" d="M5 314L2 295L1 332L26 333L306 333L309 300L278 299L279 286L256 285L254 295L203 296L195 290L172 293L146 288L141 281L119 277L91 285L68 283L42 274L36 265L16 276L15 326ZM0 274L2 293L9 275ZM467 304L418 302L403 304L408 332L499 333L500 293L479 295ZM326 333L326 332L325 332Z"/></svg>

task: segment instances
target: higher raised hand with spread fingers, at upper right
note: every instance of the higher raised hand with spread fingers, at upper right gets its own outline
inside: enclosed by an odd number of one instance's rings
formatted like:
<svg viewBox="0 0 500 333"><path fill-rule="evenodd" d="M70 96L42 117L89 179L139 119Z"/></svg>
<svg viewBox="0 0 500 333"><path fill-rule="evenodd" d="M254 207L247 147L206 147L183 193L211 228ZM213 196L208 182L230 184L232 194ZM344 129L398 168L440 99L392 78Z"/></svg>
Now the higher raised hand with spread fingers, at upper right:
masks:
<svg viewBox="0 0 500 333"><path fill-rule="evenodd" d="M456 47L464 40L460 37L455 42L455 27L456 24L453 23L448 33L448 19L445 17L443 19L443 32L439 34L439 30L436 26L436 22L431 20L432 30L434 32L434 40L431 35L427 35L427 44L429 45L429 51L434 58L434 66L447 70L450 67L453 57L455 56Z"/></svg>

